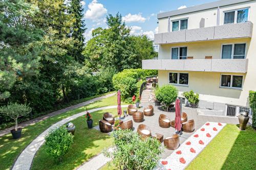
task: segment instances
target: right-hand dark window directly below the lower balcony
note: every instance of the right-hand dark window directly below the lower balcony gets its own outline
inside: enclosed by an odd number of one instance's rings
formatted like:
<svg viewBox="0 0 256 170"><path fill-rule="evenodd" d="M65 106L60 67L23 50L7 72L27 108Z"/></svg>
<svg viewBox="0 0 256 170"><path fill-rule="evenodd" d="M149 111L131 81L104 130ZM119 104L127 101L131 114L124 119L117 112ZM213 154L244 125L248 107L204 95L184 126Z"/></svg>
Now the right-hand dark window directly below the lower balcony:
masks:
<svg viewBox="0 0 256 170"><path fill-rule="evenodd" d="M221 75L220 87L241 89L243 84L243 76Z"/></svg>

